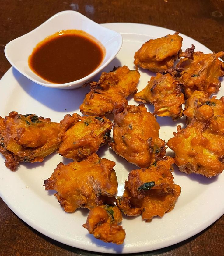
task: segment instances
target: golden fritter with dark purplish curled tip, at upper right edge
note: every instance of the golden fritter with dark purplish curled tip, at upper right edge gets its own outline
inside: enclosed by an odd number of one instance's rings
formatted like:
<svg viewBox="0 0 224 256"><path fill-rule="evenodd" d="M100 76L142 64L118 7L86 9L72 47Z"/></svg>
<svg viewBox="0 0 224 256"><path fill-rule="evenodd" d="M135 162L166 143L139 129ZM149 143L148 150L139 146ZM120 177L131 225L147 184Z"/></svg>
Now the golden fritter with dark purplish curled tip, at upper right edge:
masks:
<svg viewBox="0 0 224 256"><path fill-rule="evenodd" d="M184 82L185 96L188 98L193 91L205 91L211 94L219 91L221 83L220 76L224 76L224 63L218 58L224 56L224 51L218 53L204 54L194 52L194 45L180 54L177 68L183 68L180 80ZM187 52L187 53L186 53ZM191 52L191 54L189 54Z"/></svg>

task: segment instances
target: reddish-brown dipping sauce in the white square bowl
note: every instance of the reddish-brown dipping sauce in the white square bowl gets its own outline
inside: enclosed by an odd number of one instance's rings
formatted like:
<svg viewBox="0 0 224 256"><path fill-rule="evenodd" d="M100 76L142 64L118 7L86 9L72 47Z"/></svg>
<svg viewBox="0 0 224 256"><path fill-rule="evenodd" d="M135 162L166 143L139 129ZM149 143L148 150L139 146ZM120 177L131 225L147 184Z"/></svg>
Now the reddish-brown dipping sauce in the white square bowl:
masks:
<svg viewBox="0 0 224 256"><path fill-rule="evenodd" d="M29 56L30 69L51 83L79 80L100 66L105 48L82 30L59 31L37 44Z"/></svg>

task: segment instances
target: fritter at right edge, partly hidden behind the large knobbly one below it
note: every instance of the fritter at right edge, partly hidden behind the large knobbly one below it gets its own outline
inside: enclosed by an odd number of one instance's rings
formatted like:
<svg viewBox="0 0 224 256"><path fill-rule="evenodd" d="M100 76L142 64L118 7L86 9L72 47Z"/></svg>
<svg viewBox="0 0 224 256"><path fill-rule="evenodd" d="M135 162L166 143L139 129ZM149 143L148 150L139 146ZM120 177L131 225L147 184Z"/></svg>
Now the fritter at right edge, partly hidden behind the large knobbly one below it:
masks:
<svg viewBox="0 0 224 256"><path fill-rule="evenodd" d="M224 97L220 100L213 96L211 99L208 98L208 93L203 91L194 91L191 96L187 99L184 115L186 116L187 125L191 123L191 119L194 117L197 109L202 105L209 105L213 109L214 116L224 115Z"/></svg>

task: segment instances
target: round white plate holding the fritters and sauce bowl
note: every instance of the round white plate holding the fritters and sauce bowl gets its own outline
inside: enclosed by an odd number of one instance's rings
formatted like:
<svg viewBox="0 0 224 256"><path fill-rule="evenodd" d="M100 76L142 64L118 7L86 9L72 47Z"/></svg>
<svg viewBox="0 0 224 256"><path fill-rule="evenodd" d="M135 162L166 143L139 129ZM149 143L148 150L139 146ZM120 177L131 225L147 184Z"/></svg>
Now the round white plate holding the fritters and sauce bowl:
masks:
<svg viewBox="0 0 224 256"><path fill-rule="evenodd" d="M133 56L142 43L150 38L174 33L165 28L142 24L111 23L103 26L120 32L123 37L121 51L105 71L121 65L134 69ZM180 35L183 37L182 49L194 44L197 51L211 52L193 39ZM141 69L140 73L138 91L145 87L150 75L153 74ZM2 116L15 110L22 114L35 113L38 116L51 117L52 121L59 121L66 113L79 113L79 105L89 89L67 91L39 86L11 68L1 79L0 90ZM218 98L223 94L221 87ZM129 98L130 104L136 104L131 97ZM153 110L152 106L147 107ZM183 120L173 122L169 117L158 117L157 120L161 126L160 137L166 141L173 137L172 133L176 131L177 125L184 123ZM129 171L136 169L136 166L114 154L107 146L103 146L98 152L100 157L116 162L114 169L121 195L124 180L128 177ZM169 149L167 154L172 155ZM16 172L12 172L6 169L4 158L0 158L0 194L12 211L44 235L89 251L135 253L159 249L199 233L224 213L224 205L221 203L224 197L223 174L208 179L196 174L188 176L175 170L174 181L182 190L175 208L163 218L154 218L151 223L142 221L141 216L124 217L122 221L122 226L126 230L124 244L119 246L106 244L93 238L82 227L88 214L86 209L66 213L54 197L54 191L44 190L43 181L50 177L59 162L69 162L67 159L52 154L46 157L43 163L22 163Z"/></svg>

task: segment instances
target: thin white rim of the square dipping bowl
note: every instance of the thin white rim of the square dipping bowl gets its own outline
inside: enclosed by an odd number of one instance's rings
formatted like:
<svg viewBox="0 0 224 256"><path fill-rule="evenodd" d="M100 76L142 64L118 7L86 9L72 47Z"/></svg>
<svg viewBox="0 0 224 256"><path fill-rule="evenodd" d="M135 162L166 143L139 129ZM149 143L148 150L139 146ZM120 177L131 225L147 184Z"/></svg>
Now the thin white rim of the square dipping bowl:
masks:
<svg viewBox="0 0 224 256"><path fill-rule="evenodd" d="M118 46L117 46L117 49L116 51L114 51L114 53L109 57L109 59L104 63L104 64L101 64L100 66L98 66L97 69L95 69L92 73L90 73L89 75L79 79L79 80L76 80L76 81L72 81L72 82L68 82L68 83L63 83L63 84L54 84L54 83L51 83L51 82L48 82L48 83L44 83L44 82L40 82L34 78L32 78L31 76L29 76L26 72L22 71L21 69L19 69L14 61L12 61L12 59L10 58L10 55L8 54L8 48L9 48L9 45L13 44L13 42L17 41L18 39L21 39L21 37L24 37L28 34L33 34L35 33L35 31L39 30L40 27L43 27L44 24L48 23L50 20L53 20L55 17L57 16L64 16L68 13L72 13L74 15L77 15L77 16L81 16L81 17L84 17L84 19L88 20L89 22L91 23L95 23L95 25L98 25L100 26L103 30L105 31L113 31L114 32L114 35L117 37L117 43L118 43ZM83 30L84 31L84 30ZM86 32L86 31L85 31ZM86 32L87 33L87 32ZM43 38L44 40L44 38ZM99 40L98 40L99 41ZM65 11L61 11L61 12L58 12L56 14L54 14L53 16L51 16L49 19L47 19L46 21L44 21L43 23L41 23L38 27L34 28L33 30L31 30L30 32L20 36L20 37L17 37L11 41L9 41L6 45L5 45L5 49L4 49L4 53L5 53L5 57L6 59L9 61L9 63L17 70L19 71L19 73L23 74L24 76L26 76L28 79L30 79L31 81L33 81L34 83L36 84L40 84L42 86L45 86L45 87L49 87L49 88L65 88L65 87L74 87L75 88L78 88L80 86L81 83L85 83L86 81L90 80L91 77L95 76L97 73L99 73L105 66L107 66L117 55L117 53L120 51L121 49L121 46L122 46L122 43L123 43L123 38L121 36L120 33L114 31L114 30L110 30L106 27L103 27L101 26L99 23L96 23L95 21L89 19L88 17L86 17L85 15L83 15L82 13L80 12L77 12L77 11L73 11L73 10L65 10ZM33 48L35 47L36 45L33 46ZM105 46L104 46L105 47ZM106 48L106 47L105 47ZM27 60L28 62L28 60ZM103 60L102 60L103 62ZM32 69L30 69L30 71L32 71ZM32 71L32 73L34 73ZM35 73L34 73L35 74ZM37 75L37 74L36 74ZM41 78L41 77L40 77ZM43 78L42 78L43 79ZM44 80L44 79L43 79ZM47 80L46 80L47 81ZM76 86L76 87L75 87Z"/></svg>

